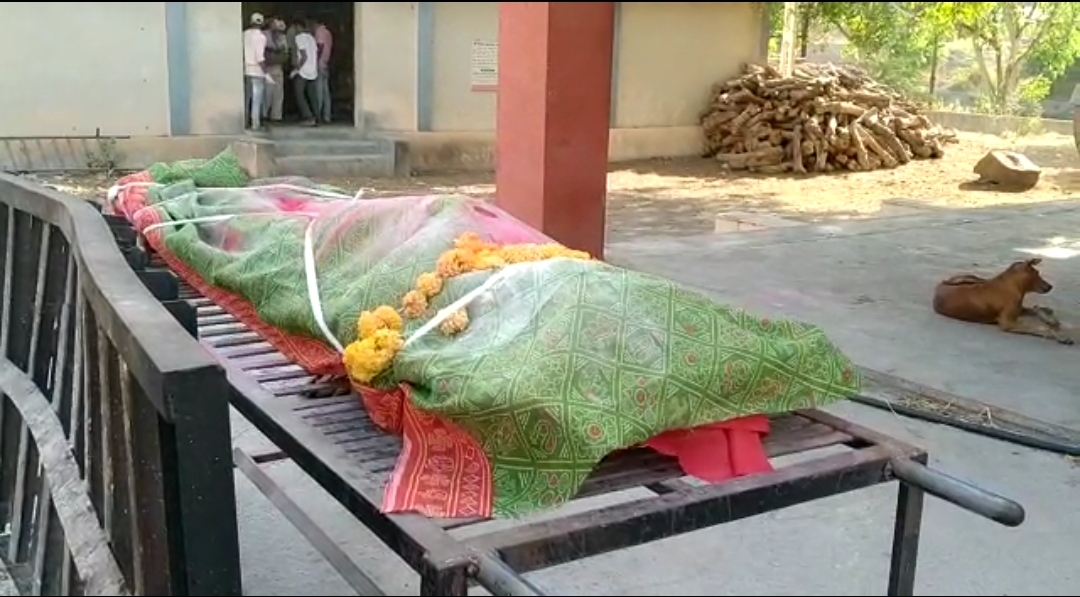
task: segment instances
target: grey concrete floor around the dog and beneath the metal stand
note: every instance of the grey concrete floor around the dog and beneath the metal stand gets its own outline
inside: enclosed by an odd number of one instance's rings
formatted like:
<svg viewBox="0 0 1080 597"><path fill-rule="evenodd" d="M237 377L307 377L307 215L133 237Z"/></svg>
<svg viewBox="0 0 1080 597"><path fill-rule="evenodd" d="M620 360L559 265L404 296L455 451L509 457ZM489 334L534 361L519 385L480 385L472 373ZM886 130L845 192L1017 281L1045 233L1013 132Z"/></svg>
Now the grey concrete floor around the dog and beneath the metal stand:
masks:
<svg viewBox="0 0 1080 597"><path fill-rule="evenodd" d="M1080 253L1077 231L1080 206L1041 205L636 239L612 244L609 258L732 304L818 323L861 365L1080 429L1080 347L943 321L928 308L940 277L999 269L1023 248ZM1063 321L1080 322L1078 263L1047 258L1042 268L1056 288L1041 302ZM1076 464L854 404L831 410L928 449L933 466L1027 510L1024 525L1009 529L929 498L917 594L1080 591ZM234 435L262 442L239 417ZM270 471L389 594L416 595L416 576L295 466ZM353 594L239 473L237 483L246 594ZM550 595L880 595L894 499L895 485L876 487L529 578Z"/></svg>

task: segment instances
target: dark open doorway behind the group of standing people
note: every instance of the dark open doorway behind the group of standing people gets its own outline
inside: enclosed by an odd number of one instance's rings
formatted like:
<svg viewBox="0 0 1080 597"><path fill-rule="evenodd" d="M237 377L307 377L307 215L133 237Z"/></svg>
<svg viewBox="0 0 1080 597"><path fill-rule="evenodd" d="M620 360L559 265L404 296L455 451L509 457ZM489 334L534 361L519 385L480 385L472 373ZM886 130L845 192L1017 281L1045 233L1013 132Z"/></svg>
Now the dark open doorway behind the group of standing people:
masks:
<svg viewBox="0 0 1080 597"><path fill-rule="evenodd" d="M276 17L283 19L288 26L302 22L305 18L314 18L329 29L330 35L334 36L329 60L332 123L349 126L355 124L354 106L356 103L356 71L353 62L356 32L353 4L354 2L241 2L243 27L246 27L251 22L253 13L261 13L268 23L270 18ZM286 67L286 79L289 70ZM284 85L282 112L283 124L300 122L296 93L288 80L285 81Z"/></svg>

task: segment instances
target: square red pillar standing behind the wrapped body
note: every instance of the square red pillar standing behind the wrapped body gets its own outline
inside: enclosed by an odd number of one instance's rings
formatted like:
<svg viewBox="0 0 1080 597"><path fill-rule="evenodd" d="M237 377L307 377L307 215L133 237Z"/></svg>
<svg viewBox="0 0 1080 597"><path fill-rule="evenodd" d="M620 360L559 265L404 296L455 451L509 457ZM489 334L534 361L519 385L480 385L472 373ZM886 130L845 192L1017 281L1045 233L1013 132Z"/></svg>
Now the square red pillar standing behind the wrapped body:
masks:
<svg viewBox="0 0 1080 597"><path fill-rule="evenodd" d="M496 202L604 256L613 2L499 2Z"/></svg>

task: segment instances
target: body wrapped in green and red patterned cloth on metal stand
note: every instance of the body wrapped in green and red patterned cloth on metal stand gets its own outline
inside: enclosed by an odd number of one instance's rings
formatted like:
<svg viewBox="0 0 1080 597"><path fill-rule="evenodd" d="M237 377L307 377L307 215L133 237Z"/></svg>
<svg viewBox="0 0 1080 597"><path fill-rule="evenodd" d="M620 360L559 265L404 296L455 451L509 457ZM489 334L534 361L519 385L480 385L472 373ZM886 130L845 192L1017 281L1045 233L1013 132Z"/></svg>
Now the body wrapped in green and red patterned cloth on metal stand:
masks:
<svg viewBox="0 0 1080 597"><path fill-rule="evenodd" d="M183 275L229 304L239 300L230 309L238 316L297 339L276 343L320 372L340 372L337 349L356 338L362 311L399 307L462 234L498 245L551 242L464 196L363 200L309 181L253 182L229 154L176 169L122 180L113 208ZM451 304L469 324L448 336L435 324ZM388 498L390 510L523 514L572 498L615 450L673 430L821 406L859 388L851 362L813 325L759 317L598 260L447 279L403 336L392 366L365 390L404 396L413 413L405 418L422 428L411 438L396 430L413 456L391 479L399 494ZM323 353L301 354L301 345ZM456 447L432 448L438 442ZM468 446L487 471L453 461L469 460ZM417 481L421 473L441 478ZM488 487L464 501L487 496L489 504L460 504L470 474Z"/></svg>

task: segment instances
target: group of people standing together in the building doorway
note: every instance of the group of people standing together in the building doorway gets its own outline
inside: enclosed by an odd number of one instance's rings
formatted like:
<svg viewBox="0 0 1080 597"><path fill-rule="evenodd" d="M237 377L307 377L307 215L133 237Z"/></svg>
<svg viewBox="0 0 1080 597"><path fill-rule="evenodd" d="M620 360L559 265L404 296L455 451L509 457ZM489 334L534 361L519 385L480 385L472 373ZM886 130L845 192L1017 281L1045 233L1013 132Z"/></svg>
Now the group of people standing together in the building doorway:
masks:
<svg viewBox="0 0 1080 597"><path fill-rule="evenodd" d="M252 14L244 29L244 114L253 131L281 122L285 85L292 84L301 124L330 122L329 60L334 38L314 18L286 26L279 17Z"/></svg>

